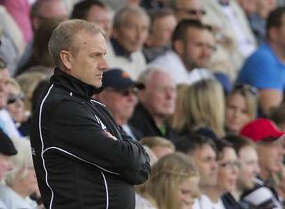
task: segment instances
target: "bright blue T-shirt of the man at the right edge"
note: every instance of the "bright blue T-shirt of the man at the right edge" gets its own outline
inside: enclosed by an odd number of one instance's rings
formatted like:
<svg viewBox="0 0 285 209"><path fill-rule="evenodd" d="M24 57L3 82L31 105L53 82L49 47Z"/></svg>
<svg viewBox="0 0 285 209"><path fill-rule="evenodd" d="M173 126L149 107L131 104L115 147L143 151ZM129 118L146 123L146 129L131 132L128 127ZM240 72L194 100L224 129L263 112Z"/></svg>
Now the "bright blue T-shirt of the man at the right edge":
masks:
<svg viewBox="0 0 285 209"><path fill-rule="evenodd" d="M280 61L270 45L265 43L245 61L238 75L237 83L283 92L285 63Z"/></svg>

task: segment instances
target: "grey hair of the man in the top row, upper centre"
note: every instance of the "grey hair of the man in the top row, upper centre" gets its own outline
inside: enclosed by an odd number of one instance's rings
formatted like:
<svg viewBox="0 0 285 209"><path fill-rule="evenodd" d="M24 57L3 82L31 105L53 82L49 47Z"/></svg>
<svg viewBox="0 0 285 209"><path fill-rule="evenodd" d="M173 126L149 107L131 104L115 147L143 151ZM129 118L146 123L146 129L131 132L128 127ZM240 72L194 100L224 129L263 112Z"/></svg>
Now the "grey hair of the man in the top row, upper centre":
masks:
<svg viewBox="0 0 285 209"><path fill-rule="evenodd" d="M146 11L144 10L144 8L141 8L139 6L124 6L123 8L117 10L114 15L114 22L113 22L114 29L118 29L120 26L122 26L125 23L125 21L128 20L128 15L130 13L137 15L139 17L146 17L149 26L151 20Z"/></svg>

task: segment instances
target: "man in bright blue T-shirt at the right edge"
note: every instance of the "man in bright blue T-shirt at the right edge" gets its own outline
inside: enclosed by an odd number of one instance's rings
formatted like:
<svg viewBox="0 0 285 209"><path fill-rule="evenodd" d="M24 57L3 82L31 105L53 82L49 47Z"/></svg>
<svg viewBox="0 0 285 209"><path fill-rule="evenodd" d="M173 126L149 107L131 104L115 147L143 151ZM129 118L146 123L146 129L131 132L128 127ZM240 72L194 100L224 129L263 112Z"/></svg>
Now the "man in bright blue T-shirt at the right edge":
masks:
<svg viewBox="0 0 285 209"><path fill-rule="evenodd" d="M285 7L268 16L266 42L245 61L238 82L259 89L259 105L265 116L284 99L285 86Z"/></svg>

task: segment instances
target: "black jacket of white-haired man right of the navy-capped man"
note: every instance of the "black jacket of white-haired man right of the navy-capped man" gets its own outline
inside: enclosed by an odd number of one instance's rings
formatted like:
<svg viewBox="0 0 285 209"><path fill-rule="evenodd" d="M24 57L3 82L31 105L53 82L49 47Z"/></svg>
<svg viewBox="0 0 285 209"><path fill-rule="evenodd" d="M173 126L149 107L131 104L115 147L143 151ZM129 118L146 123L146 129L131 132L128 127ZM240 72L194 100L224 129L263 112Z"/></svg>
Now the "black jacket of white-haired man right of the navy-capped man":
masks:
<svg viewBox="0 0 285 209"><path fill-rule="evenodd" d="M149 112L142 106L141 103L137 104L134 109L134 114L130 118L129 123L134 127L134 135L137 139L142 137L164 137L172 142L178 140L178 134L170 127L168 123L166 125L166 134L162 134L160 129L155 124L153 117Z"/></svg>

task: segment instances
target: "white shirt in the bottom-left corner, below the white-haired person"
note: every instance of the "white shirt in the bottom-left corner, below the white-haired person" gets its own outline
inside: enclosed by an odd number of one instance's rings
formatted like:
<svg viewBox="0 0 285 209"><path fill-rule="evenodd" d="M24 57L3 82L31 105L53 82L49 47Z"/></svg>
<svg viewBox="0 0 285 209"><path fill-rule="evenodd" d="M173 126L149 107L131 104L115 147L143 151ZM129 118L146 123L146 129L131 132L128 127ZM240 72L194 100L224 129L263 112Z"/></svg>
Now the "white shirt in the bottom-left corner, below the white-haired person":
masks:
<svg viewBox="0 0 285 209"><path fill-rule="evenodd" d="M5 185L0 186L0 200L7 206L9 209L36 209L38 204L36 201L33 201L27 196L23 198L13 189Z"/></svg>

